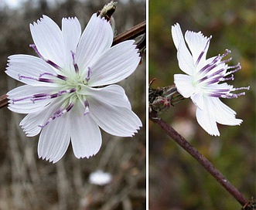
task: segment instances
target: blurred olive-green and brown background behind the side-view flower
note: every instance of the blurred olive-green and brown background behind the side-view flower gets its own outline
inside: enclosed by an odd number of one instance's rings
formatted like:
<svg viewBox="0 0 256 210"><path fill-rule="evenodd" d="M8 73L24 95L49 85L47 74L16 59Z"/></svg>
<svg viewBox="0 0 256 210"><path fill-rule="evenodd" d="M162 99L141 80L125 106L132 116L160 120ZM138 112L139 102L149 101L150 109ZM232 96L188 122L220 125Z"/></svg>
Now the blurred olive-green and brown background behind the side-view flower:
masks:
<svg viewBox="0 0 256 210"><path fill-rule="evenodd" d="M149 81L173 85L173 75L183 73L172 42L171 25L212 35L207 58L230 49L235 87L251 86L246 95L222 100L244 122L240 127L219 125L220 137L207 134L196 121L191 100L183 100L161 117L208 158L248 199L255 198L255 1L148 1ZM186 151L149 122L149 208L241 209L241 205Z"/></svg>

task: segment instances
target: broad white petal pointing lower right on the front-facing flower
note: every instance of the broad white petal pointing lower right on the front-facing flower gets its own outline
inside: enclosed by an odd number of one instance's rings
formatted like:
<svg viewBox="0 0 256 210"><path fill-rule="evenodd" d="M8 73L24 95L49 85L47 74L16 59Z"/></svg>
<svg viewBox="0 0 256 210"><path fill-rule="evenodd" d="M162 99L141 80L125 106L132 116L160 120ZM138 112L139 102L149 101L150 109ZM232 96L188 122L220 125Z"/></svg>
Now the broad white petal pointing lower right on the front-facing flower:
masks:
<svg viewBox="0 0 256 210"><path fill-rule="evenodd" d="M106 132L120 137L131 137L137 133L142 122L137 115L125 107L114 107L93 97L88 98L91 117Z"/></svg>

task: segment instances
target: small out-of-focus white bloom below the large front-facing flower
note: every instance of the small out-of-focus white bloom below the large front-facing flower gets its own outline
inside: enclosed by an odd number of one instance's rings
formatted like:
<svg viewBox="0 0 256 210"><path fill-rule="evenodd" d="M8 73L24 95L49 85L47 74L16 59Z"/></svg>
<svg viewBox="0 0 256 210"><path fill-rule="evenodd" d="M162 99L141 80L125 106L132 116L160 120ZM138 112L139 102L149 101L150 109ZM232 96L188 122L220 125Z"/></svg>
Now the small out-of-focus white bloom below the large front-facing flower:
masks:
<svg viewBox="0 0 256 210"><path fill-rule="evenodd" d="M94 185L107 185L111 182L112 176L107 172L103 172L101 170L94 171L89 176L90 184Z"/></svg>

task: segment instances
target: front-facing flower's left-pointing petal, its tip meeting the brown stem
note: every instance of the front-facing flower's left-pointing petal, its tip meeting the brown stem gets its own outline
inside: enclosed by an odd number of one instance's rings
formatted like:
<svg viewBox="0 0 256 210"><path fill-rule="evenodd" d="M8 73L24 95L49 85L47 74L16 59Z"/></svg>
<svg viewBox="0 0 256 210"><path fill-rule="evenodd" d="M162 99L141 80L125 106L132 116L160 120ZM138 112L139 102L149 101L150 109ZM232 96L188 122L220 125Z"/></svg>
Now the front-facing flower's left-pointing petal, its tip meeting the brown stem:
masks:
<svg viewBox="0 0 256 210"><path fill-rule="evenodd" d="M34 94L38 93L51 93L52 90L53 88L48 86L37 86L35 88L34 86L25 85L16 87L15 89L7 93L7 95L9 96L9 110L17 113L32 113L42 110L54 99L36 100L34 102L31 98L14 102L13 100L20 100L26 97L32 97Z"/></svg>

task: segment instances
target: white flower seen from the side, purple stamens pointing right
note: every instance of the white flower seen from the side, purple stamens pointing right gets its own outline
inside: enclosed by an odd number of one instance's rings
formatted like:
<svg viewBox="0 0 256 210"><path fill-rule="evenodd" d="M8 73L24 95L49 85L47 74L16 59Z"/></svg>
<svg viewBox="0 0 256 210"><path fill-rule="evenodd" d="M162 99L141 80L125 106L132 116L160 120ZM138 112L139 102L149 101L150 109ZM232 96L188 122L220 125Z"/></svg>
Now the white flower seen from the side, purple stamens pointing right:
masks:
<svg viewBox="0 0 256 210"><path fill-rule="evenodd" d="M234 90L249 90L249 87L234 88L226 80L234 80L234 76L228 76L241 69L237 66L228 66L230 59L222 60L230 53L226 50L224 55L207 59L207 50L210 39L201 32L186 31L185 39L179 24L172 26L172 39L176 46L179 68L184 74L174 75L174 83L180 94L185 98L191 98L196 105L196 119L201 127L210 135L219 136L217 123L225 125L240 125L243 120L235 118L235 111L231 110L220 98L236 98L245 93L231 93ZM228 69L233 69L228 71Z"/></svg>

